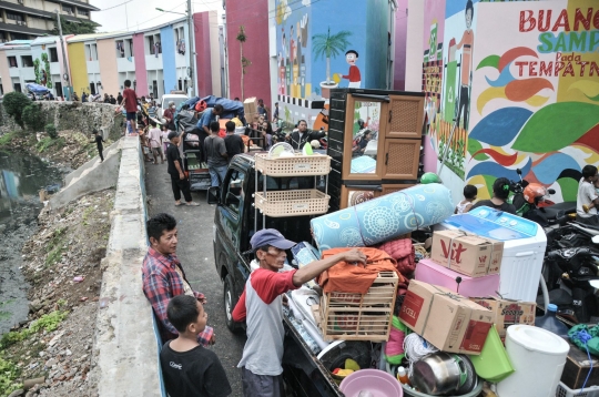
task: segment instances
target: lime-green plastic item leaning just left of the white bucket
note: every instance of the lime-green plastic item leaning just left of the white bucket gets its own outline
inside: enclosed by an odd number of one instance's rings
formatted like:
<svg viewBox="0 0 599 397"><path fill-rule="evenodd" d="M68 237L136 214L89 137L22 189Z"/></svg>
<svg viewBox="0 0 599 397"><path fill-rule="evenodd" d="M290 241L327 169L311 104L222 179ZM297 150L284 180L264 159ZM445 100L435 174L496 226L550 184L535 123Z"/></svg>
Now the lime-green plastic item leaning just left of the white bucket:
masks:
<svg viewBox="0 0 599 397"><path fill-rule="evenodd" d="M476 374L483 379L498 383L514 373L506 348L499 338L495 325L490 328L485 346L478 356L468 356Z"/></svg>

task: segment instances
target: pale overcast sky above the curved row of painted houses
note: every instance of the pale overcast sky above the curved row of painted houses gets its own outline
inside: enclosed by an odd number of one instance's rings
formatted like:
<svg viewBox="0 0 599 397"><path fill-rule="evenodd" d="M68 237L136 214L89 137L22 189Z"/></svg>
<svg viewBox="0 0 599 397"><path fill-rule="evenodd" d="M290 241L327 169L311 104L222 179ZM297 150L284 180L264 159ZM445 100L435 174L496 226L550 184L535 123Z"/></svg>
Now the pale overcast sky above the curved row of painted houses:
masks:
<svg viewBox="0 0 599 397"><path fill-rule="evenodd" d="M156 7L184 13L187 2L186 0L90 0L90 3L105 10L93 11L91 14L92 20L102 26L98 32L114 32L126 31L128 24L129 31L135 31L183 18L180 14L160 12ZM221 16L224 12L223 0L192 0L192 10L193 12L217 10L219 23L221 23Z"/></svg>

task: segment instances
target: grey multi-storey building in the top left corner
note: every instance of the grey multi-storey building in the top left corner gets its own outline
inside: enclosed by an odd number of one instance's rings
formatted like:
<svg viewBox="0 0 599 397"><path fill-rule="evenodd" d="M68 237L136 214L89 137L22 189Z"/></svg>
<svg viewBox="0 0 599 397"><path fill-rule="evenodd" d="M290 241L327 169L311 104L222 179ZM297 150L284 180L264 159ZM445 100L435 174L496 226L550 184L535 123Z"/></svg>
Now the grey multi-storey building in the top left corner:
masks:
<svg viewBox="0 0 599 397"><path fill-rule="evenodd" d="M89 0L0 0L0 42L33 40L50 33L59 10L67 21L91 20L100 9Z"/></svg>

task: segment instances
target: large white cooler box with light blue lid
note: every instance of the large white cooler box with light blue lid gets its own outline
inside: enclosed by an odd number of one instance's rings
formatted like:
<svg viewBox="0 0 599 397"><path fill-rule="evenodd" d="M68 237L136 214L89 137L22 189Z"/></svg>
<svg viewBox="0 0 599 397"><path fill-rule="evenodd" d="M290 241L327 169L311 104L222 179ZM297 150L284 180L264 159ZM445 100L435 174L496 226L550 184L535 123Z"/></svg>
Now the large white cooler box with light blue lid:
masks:
<svg viewBox="0 0 599 397"><path fill-rule="evenodd" d="M499 294L507 299L536 302L547 246L545 231L537 223L479 206L466 214L453 215L435 228L459 228L502 241Z"/></svg>

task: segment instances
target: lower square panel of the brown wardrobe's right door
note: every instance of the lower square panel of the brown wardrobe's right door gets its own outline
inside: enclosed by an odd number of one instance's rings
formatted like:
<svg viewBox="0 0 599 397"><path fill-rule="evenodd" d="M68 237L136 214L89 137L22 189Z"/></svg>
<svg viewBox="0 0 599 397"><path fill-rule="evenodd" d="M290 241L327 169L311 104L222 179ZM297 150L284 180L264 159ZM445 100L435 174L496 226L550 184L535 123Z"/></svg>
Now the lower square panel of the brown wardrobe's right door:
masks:
<svg viewBox="0 0 599 397"><path fill-rule="evenodd" d="M384 153L384 180L418 179L420 140L387 139Z"/></svg>

